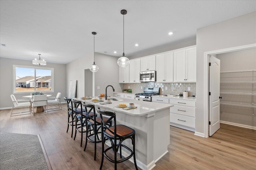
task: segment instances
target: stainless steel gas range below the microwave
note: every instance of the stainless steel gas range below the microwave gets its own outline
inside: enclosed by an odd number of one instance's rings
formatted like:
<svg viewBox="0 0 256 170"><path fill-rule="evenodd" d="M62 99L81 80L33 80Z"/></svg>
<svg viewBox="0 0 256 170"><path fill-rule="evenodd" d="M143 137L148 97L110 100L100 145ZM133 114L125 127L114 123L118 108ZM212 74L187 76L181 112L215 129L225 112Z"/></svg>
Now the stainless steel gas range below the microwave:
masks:
<svg viewBox="0 0 256 170"><path fill-rule="evenodd" d="M151 96L153 95L159 95L160 94L159 87L144 87L143 93L136 93L135 94L135 100L143 100L151 102Z"/></svg>

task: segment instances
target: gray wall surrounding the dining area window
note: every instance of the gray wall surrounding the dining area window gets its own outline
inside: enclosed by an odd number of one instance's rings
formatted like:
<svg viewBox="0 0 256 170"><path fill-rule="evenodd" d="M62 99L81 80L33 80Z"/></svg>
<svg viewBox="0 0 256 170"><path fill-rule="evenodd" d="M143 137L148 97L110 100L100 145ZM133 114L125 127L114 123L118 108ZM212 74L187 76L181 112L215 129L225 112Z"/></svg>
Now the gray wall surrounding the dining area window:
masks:
<svg viewBox="0 0 256 170"><path fill-rule="evenodd" d="M17 60L17 59L7 59L0 57L0 108L12 107L12 100L10 95L12 94L13 88L13 70L12 65L24 65L24 66L35 66L32 61L27 60ZM46 94L51 94L56 96L58 92L62 93L61 102L64 102L63 97L66 96L66 64L54 64L47 63L46 66L54 68L54 92L48 92ZM21 99L22 96L29 95L24 94L14 94L16 99Z"/></svg>

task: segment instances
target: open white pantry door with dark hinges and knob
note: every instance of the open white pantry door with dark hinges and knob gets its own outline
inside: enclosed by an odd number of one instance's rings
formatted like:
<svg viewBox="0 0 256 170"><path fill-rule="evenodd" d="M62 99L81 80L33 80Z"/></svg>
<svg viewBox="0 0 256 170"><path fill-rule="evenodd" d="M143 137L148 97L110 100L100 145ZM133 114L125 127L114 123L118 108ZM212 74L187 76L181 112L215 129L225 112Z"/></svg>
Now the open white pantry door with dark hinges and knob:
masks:
<svg viewBox="0 0 256 170"><path fill-rule="evenodd" d="M220 129L220 60L209 58L209 136Z"/></svg>

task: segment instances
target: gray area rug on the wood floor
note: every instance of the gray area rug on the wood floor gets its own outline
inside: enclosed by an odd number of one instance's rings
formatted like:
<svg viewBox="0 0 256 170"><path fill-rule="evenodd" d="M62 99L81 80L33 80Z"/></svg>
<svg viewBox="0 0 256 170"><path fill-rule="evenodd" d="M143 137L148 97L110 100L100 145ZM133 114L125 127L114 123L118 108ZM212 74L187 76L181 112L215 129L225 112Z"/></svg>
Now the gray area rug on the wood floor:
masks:
<svg viewBox="0 0 256 170"><path fill-rule="evenodd" d="M1 170L48 170L37 135L0 133Z"/></svg>

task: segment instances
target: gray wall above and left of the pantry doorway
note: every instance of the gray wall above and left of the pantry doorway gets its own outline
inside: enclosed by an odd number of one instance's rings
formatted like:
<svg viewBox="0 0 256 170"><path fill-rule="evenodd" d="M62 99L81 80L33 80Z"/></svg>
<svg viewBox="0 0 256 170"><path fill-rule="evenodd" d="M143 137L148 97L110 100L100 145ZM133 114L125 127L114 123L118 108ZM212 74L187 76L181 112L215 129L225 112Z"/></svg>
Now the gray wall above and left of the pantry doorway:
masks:
<svg viewBox="0 0 256 170"><path fill-rule="evenodd" d="M256 43L256 12L226 20L197 30L196 33L196 132L204 129L204 53Z"/></svg>

